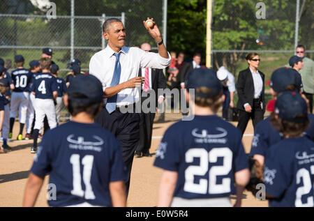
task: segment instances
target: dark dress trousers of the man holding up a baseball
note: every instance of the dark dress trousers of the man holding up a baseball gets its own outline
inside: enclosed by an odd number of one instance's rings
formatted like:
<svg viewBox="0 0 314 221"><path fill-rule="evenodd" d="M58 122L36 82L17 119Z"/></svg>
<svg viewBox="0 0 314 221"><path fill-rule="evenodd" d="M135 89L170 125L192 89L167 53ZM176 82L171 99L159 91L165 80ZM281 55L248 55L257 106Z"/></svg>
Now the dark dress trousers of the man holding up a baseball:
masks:
<svg viewBox="0 0 314 221"><path fill-rule="evenodd" d="M121 146L122 157L126 165L125 183L126 196L128 196L134 152L140 138L140 115L135 113L135 109L133 113L121 113L119 110L115 110L109 114L107 109L103 108L96 117L95 123L112 132Z"/></svg>

